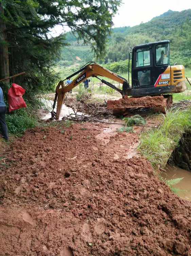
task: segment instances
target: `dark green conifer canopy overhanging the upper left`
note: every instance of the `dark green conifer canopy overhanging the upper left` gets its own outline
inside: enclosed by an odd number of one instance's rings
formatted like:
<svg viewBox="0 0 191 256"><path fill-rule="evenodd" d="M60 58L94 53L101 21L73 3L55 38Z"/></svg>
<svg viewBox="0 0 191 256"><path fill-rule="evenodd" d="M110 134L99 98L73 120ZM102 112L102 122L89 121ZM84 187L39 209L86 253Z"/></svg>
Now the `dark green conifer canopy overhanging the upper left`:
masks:
<svg viewBox="0 0 191 256"><path fill-rule="evenodd" d="M22 77L28 90L50 88L56 76L52 70L65 35L51 36L57 25L68 26L97 56L105 51L112 17L121 0L1 0L0 53L8 53L10 75ZM5 59L5 58L4 58ZM3 74L2 67L0 78Z"/></svg>

